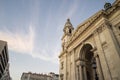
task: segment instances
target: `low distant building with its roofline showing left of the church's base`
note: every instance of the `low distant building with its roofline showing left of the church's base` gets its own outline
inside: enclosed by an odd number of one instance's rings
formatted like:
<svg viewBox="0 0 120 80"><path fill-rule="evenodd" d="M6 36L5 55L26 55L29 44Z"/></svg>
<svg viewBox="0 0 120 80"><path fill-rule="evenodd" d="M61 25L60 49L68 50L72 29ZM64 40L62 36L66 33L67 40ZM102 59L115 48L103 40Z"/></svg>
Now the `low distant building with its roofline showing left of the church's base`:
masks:
<svg viewBox="0 0 120 80"><path fill-rule="evenodd" d="M37 73L23 73L21 80L59 80L59 75L55 73L37 74Z"/></svg>

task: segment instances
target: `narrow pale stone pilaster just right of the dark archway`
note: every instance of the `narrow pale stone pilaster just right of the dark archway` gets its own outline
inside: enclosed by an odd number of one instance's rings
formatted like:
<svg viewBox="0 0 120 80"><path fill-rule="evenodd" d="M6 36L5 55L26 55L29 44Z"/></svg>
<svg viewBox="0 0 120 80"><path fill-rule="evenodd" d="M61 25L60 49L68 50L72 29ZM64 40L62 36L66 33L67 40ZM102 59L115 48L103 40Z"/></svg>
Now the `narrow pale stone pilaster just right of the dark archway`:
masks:
<svg viewBox="0 0 120 80"><path fill-rule="evenodd" d="M106 59L105 53L104 53L103 48L102 48L102 43L100 41L100 35L99 35L98 29L94 32L94 40L95 40L95 43L96 43L96 48L97 48L98 55L100 57L100 62L102 64L102 69L104 69L103 75L105 77L105 80L112 80L111 74L110 74L110 71L109 71L108 61Z"/></svg>

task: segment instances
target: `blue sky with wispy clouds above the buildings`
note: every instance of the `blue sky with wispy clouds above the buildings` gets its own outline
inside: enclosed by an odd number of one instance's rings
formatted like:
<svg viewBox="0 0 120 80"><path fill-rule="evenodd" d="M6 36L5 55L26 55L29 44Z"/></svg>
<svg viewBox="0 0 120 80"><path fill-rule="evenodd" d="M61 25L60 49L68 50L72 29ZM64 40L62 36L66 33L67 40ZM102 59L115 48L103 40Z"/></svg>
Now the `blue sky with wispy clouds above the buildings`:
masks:
<svg viewBox="0 0 120 80"><path fill-rule="evenodd" d="M8 42L10 76L59 73L66 20L73 27L114 0L0 0L0 40Z"/></svg>

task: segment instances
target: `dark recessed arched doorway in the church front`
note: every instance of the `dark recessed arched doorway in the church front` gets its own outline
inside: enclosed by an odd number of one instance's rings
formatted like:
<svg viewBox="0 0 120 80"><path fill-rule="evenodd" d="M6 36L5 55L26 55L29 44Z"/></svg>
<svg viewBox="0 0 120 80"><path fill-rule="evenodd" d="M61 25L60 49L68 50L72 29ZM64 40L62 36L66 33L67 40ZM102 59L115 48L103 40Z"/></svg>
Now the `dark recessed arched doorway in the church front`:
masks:
<svg viewBox="0 0 120 80"><path fill-rule="evenodd" d="M99 80L96 71L96 60L94 53L91 51L93 47L90 44L85 44L80 51L80 60L84 62L83 80Z"/></svg>

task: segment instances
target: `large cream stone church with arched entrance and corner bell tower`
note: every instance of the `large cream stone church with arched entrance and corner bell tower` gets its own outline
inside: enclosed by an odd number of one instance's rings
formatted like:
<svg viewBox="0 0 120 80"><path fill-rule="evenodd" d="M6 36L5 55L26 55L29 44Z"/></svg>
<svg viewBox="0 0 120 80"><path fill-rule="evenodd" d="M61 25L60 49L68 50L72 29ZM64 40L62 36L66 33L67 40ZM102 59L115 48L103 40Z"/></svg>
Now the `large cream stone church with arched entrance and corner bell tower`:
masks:
<svg viewBox="0 0 120 80"><path fill-rule="evenodd" d="M65 23L60 80L120 80L120 0L104 8L76 30Z"/></svg>

